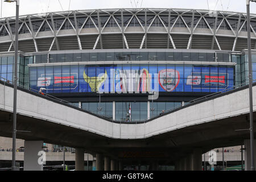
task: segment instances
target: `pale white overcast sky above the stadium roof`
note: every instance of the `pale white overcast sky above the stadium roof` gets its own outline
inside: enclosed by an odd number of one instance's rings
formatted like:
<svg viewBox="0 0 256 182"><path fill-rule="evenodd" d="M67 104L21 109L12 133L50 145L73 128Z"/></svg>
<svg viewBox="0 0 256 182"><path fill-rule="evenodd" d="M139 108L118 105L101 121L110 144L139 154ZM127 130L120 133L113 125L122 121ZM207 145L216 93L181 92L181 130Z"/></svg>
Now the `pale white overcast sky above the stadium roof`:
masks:
<svg viewBox="0 0 256 182"><path fill-rule="evenodd" d="M246 13L246 0L71 0L70 10L132 8L137 2L137 7L181 9L208 9L209 2L210 10ZM62 10L69 10L69 0L20 0L20 15ZM250 10L256 14L256 3L251 2ZM3 2L2 17L7 16L15 16L15 3Z"/></svg>

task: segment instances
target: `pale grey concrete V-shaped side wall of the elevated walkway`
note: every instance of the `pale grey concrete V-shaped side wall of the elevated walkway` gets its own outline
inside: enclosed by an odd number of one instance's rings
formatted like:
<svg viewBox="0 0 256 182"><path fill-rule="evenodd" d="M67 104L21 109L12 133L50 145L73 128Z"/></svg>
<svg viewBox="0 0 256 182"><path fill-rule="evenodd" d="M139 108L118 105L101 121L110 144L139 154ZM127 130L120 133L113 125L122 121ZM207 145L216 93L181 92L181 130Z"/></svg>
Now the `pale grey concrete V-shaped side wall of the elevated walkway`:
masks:
<svg viewBox="0 0 256 182"><path fill-rule="evenodd" d="M13 86L1 81L0 92L1 113L3 111L12 113ZM253 86L253 93L256 93L256 85ZM256 94L253 95L253 103L255 111ZM35 122L31 123L34 127L39 120L73 127L107 138L144 139L193 125L247 114L249 113L249 89L244 87L232 90L183 106L146 122L132 124L113 122L79 107L18 88L17 113L22 117L34 118Z"/></svg>

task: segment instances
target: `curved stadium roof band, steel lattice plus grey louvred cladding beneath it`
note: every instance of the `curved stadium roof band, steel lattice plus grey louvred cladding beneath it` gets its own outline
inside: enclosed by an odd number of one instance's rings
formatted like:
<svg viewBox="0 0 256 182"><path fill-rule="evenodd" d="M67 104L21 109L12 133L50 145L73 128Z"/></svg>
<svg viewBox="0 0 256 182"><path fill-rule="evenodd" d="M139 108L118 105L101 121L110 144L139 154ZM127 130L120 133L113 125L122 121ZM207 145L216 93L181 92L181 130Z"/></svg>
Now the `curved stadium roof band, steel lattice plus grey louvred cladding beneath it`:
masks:
<svg viewBox="0 0 256 182"><path fill-rule="evenodd" d="M0 52L14 49L15 17L0 19ZM256 15L251 15L256 48ZM247 47L246 14L189 9L101 9L19 16L24 52L104 48Z"/></svg>

